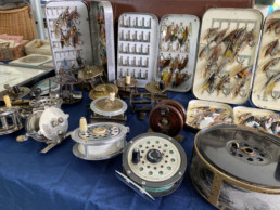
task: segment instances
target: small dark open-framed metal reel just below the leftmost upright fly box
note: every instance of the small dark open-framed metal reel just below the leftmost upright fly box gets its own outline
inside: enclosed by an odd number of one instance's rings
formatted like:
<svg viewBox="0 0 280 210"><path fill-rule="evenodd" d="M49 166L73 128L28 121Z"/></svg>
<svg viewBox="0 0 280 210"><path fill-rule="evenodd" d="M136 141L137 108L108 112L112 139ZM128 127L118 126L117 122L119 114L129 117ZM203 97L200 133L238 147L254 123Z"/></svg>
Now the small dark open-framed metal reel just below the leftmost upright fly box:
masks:
<svg viewBox="0 0 280 210"><path fill-rule="evenodd" d="M66 74L56 75L50 78L50 87L52 82L60 84L60 90L50 91L51 97L61 97L63 104L75 104L82 100L82 92L74 90L75 84L81 83L75 77Z"/></svg>

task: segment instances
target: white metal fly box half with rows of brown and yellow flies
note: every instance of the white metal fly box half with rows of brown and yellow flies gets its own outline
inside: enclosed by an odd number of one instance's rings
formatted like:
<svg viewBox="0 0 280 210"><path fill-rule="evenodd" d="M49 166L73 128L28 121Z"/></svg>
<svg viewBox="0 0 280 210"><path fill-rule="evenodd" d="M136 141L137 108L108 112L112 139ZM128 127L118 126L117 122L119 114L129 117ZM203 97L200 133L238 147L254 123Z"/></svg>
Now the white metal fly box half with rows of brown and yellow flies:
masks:
<svg viewBox="0 0 280 210"><path fill-rule="evenodd" d="M168 90L187 92L192 87L200 19L193 15L165 15L160 23L156 80Z"/></svg>

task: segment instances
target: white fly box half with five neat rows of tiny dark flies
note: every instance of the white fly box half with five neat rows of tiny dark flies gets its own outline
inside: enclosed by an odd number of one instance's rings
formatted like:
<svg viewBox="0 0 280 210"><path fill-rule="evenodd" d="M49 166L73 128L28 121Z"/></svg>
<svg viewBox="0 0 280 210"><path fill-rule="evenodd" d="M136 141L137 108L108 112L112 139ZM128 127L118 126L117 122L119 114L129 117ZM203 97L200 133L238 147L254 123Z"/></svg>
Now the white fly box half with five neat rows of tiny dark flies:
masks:
<svg viewBox="0 0 280 210"><path fill-rule="evenodd" d="M117 78L130 76L138 87L155 78L158 19L153 14L124 13L118 19Z"/></svg>

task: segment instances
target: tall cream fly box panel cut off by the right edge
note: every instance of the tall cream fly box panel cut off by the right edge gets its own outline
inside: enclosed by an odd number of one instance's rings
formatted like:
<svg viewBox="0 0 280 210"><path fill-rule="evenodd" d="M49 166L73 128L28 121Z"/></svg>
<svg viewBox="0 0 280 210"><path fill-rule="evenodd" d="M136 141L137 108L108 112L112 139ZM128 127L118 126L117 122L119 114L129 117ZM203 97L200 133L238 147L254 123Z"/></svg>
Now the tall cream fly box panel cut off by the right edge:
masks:
<svg viewBox="0 0 280 210"><path fill-rule="evenodd" d="M252 102L260 107L280 110L280 12L275 11L265 21L257 69L252 90Z"/></svg>

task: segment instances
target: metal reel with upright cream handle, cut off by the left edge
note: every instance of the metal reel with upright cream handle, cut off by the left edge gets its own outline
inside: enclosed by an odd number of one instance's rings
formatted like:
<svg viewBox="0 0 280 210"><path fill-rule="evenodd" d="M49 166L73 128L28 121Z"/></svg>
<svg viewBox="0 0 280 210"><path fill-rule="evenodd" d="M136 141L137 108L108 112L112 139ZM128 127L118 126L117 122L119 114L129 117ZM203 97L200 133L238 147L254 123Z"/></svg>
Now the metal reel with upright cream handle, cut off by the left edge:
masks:
<svg viewBox="0 0 280 210"><path fill-rule="evenodd" d="M4 95L3 100L5 102L7 107L0 108L0 135L13 133L23 128L18 113L18 107L13 107L11 105L11 101L8 95Z"/></svg>

